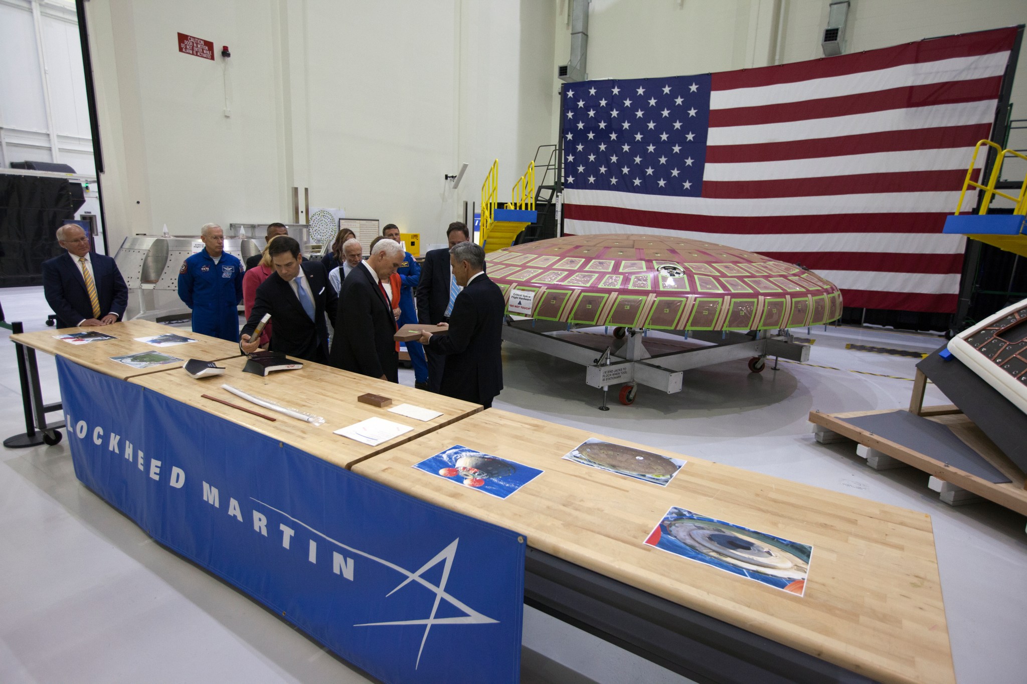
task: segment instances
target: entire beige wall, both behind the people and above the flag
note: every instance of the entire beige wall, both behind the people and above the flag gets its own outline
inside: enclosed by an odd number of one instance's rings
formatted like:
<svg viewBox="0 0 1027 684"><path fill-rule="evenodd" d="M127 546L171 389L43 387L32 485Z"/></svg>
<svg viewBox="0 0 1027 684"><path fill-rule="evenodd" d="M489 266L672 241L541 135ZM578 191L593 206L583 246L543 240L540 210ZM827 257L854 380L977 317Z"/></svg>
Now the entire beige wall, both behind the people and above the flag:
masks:
<svg viewBox="0 0 1027 684"><path fill-rule="evenodd" d="M442 242L556 140L571 0L90 0L112 248L167 224L290 219L292 188ZM591 78L816 58L827 0L594 0ZM1023 0L852 0L847 50L1007 26ZM177 32L231 48L180 54ZM1027 63L1027 50L1021 55ZM1014 90L1027 107L1027 68ZM1023 109L1023 107L1021 109ZM1027 147L1027 140L1012 140ZM444 182L461 162L458 191Z"/></svg>

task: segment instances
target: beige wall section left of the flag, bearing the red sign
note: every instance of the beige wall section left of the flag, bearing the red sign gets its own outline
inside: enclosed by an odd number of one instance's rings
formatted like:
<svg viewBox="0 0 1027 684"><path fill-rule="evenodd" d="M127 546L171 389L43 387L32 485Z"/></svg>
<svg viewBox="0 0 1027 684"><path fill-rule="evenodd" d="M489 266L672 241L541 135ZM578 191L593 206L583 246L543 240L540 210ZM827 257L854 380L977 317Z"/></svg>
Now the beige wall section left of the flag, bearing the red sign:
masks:
<svg viewBox="0 0 1027 684"><path fill-rule="evenodd" d="M548 0L90 0L86 11L112 248L164 224L187 235L290 220L294 186L311 208L444 242L494 158L509 187L549 142ZM181 54L178 32L213 41L217 59ZM443 176L463 161L453 191Z"/></svg>

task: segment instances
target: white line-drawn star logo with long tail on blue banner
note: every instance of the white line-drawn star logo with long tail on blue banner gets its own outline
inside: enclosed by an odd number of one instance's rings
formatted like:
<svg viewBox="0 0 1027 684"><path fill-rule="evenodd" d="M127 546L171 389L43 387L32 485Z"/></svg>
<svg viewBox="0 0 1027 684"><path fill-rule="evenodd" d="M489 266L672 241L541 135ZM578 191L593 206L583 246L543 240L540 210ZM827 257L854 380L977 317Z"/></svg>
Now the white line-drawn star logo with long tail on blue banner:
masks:
<svg viewBox="0 0 1027 684"><path fill-rule="evenodd" d="M379 627L379 626L386 626L386 625L423 625L424 626L424 636L421 637L421 647L417 651L417 665L415 665L415 667L414 667L415 670L421 663L421 653L424 651L424 644L428 640L428 632L431 630L431 627L433 625L487 625L489 622L498 622L499 621L499 620L496 620L496 619L492 619L491 617L488 617L487 615L483 615L482 613L478 612L477 610L474 610L473 608L471 608L470 606L468 606L467 604L465 604L463 601L460 601L459 599L457 599L456 597L450 595L446 591L446 584L449 581L450 568L453 567L453 560L456 558L456 547L457 547L457 544L460 541L459 537L457 537L456 539L453 539L453 541L450 542L450 545L448 547L446 547L445 549L443 549L442 551L440 551L435 555L435 557L432 558L430 561L428 561L427 563L425 563L424 565L422 565L416 571L411 572L410 570L407 570L406 568L403 568L403 567L396 565L395 563L390 563L389 561L386 561L386 560L384 560L382 558L378 558L376 556L372 556L371 554L365 553L365 552L363 552L363 551L360 551L358 549L354 549L352 547L347 547L346 545L342 544L341 541L337 541L336 539L333 539L332 537L328 536L327 534L318 532L317 530L315 530L310 525L307 525L302 520L298 520L297 518L294 518L293 516L289 515L284 511L279 511L278 509L274 508L273 506L265 504L264 501L258 500L256 498L253 498L252 500L256 501L257 504L260 504L261 506L267 507L268 509L274 511L275 513L278 513L278 514L280 514L280 515L289 518L290 520L292 520L293 522L295 522L298 525L302 525L303 527L305 527L306 529L310 530L311 532L313 532L317 536L321 537L326 541L331 541L332 544L336 545L337 547L339 547L341 549L345 549L346 551L348 551L348 552L350 552L352 554L355 554L357 556L362 556L364 558L367 558L368 560L375 561L376 563L380 563L380 564L384 565L385 567L388 567L388 568L391 568L392 570L395 570L400 574L406 575L406 579L404 579L402 582L400 582L395 587L395 589L393 589L391 592L389 592L388 594L386 594L386 597L392 596L393 594L395 594L397 591L400 591L401 589L403 589L404 587L406 587L411 581L414 581L414 582L417 582L417 584L421 585L422 587L424 587L429 592L432 592L435 595L435 600L434 600L434 602L431 605L431 613L427 617L425 617L425 618L421 618L421 619L407 619L407 620L391 620L391 621L385 621L385 622L363 622L360 625L354 625L353 626L353 627ZM442 576L442 579L439 581L438 586L433 585L431 581L429 581L429 580L425 579L423 576L421 576L424 572L430 570L431 568L433 568L435 565L438 565L442 561L445 561L446 564L443 566L443 576ZM444 600L447 603L449 603L450 605L452 605L453 607L455 607L455 608L463 611L464 614L456 616L456 617L435 617L435 613L439 611L439 604L442 601L444 601Z"/></svg>

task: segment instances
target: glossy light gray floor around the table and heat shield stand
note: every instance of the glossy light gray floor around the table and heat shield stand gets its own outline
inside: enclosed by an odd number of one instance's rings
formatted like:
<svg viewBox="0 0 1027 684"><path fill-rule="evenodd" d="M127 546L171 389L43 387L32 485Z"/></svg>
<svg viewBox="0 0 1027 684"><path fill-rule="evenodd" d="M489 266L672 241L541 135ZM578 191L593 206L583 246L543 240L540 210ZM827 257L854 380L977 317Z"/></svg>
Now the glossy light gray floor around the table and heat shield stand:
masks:
<svg viewBox="0 0 1027 684"><path fill-rule="evenodd" d="M8 321L45 329L40 288L0 289ZM806 331L796 330L806 335ZM0 436L24 430L8 331L0 330ZM875 472L851 443L816 444L809 410L906 406L915 359L846 343L931 351L938 337L813 329L809 364L756 375L744 361L685 374L680 394L642 388L597 410L584 369L504 347L498 408L931 516L949 636L962 684L1020 684L1027 672L1024 517L942 504L913 469ZM40 355L44 398L59 392ZM817 366L829 366L823 368ZM864 373L852 372L864 371ZM413 385L411 371L401 381ZM933 386L927 403L947 403ZM526 682L682 683L671 672L531 608ZM154 544L75 479L67 446L0 450L0 682L370 681L234 589Z"/></svg>

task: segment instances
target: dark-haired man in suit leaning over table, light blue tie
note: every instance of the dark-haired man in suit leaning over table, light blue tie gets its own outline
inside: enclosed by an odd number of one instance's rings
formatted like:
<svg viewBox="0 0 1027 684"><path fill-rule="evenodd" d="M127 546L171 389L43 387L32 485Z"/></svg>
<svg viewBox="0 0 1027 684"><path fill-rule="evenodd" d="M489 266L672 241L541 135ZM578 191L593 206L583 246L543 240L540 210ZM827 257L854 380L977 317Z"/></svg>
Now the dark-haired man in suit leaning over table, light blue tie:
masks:
<svg viewBox="0 0 1027 684"><path fill-rule="evenodd" d="M251 334L264 314L271 314L271 349L306 361L328 363L328 327L335 324L338 298L319 261L301 261L300 243L284 236L268 248L274 273L257 288L250 320L242 326L239 348L257 351L260 338Z"/></svg>

